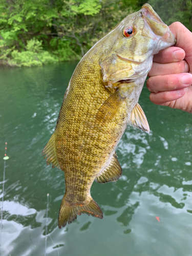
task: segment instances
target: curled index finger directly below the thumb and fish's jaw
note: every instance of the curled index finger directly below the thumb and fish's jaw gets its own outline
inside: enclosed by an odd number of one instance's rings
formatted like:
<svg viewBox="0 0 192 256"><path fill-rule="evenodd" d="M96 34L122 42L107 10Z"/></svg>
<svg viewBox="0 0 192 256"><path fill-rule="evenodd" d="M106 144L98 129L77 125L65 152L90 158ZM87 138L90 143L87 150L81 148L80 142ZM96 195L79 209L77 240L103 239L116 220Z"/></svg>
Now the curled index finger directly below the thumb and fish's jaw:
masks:
<svg viewBox="0 0 192 256"><path fill-rule="evenodd" d="M170 63L183 60L185 51L179 47L169 47L154 55L153 61L159 63Z"/></svg>

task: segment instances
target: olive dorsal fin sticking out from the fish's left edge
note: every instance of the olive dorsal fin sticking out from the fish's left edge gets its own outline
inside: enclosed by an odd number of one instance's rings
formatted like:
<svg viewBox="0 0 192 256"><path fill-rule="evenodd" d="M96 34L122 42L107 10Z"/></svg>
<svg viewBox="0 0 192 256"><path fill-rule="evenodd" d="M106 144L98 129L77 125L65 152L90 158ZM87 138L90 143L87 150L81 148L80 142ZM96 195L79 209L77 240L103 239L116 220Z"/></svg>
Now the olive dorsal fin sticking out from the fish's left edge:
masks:
<svg viewBox="0 0 192 256"><path fill-rule="evenodd" d="M47 157L46 161L47 161L47 165L49 165L50 163L52 163L52 168L57 167L58 169L60 169L58 160L57 160L57 152L56 152L56 134L53 133L53 135L51 136L50 140L48 141L48 143L45 145L44 149L42 150L42 154L43 156L45 156L45 158Z"/></svg>

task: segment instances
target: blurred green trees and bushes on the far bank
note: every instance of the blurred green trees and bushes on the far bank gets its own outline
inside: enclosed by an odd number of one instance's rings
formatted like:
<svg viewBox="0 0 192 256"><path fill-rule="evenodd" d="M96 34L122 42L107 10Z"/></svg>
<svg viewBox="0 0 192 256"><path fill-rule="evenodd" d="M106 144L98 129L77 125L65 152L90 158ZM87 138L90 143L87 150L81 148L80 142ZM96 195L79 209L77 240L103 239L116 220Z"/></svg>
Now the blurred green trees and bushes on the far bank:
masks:
<svg viewBox="0 0 192 256"><path fill-rule="evenodd" d="M80 59L145 0L0 0L0 64L38 66ZM192 29L191 0L149 0L170 25Z"/></svg>

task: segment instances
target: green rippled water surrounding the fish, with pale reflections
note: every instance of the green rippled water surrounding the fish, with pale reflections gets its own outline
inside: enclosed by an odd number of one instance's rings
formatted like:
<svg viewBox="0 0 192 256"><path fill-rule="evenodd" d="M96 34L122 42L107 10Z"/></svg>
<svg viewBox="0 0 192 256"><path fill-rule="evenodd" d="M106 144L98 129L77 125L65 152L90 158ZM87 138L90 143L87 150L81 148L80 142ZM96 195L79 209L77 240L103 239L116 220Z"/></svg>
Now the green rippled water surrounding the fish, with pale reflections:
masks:
<svg viewBox="0 0 192 256"><path fill-rule="evenodd" d="M192 118L151 103L146 87L139 103L150 135L127 127L117 147L123 176L115 183L94 182L91 189L103 219L81 215L65 228L57 227L65 181L61 170L46 165L41 151L54 130L75 66L0 69L1 189L6 141L10 157L2 256L45 254L47 193L46 255L191 256Z"/></svg>

